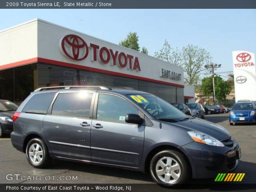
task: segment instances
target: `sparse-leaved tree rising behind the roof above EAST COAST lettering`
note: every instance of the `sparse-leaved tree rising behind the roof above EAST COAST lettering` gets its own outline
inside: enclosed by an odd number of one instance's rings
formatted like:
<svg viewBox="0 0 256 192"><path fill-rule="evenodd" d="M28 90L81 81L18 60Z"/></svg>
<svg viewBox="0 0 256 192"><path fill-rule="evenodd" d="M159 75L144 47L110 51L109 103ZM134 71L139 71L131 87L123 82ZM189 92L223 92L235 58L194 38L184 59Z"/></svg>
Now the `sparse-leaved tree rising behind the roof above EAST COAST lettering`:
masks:
<svg viewBox="0 0 256 192"><path fill-rule="evenodd" d="M164 40L164 45L159 52L155 52L155 57L167 61L171 64L181 65L182 56L180 50L174 50L167 40Z"/></svg>

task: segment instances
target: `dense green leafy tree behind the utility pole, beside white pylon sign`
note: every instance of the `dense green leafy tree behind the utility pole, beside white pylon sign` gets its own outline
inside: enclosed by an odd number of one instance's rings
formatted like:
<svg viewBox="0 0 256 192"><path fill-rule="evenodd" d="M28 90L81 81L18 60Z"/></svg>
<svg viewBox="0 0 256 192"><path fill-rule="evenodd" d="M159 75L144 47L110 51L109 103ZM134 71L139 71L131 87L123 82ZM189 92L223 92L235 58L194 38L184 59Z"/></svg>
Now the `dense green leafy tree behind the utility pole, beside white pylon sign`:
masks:
<svg viewBox="0 0 256 192"><path fill-rule="evenodd" d="M215 88L215 98L218 101L226 100L226 95L228 95L231 91L230 84L224 81L220 76L214 77L214 88ZM205 96L213 95L212 76L202 79L200 92L202 92Z"/></svg>

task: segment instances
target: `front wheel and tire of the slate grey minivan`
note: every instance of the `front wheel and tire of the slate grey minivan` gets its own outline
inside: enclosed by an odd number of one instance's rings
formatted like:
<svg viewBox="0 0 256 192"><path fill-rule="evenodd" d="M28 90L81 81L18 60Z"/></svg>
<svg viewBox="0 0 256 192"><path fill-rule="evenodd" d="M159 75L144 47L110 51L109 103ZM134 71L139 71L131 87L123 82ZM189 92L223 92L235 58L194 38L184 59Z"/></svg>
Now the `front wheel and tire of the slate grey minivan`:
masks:
<svg viewBox="0 0 256 192"><path fill-rule="evenodd" d="M152 158L150 174L157 184L173 187L186 183L190 178L191 171L188 161L182 153L175 150L163 150Z"/></svg>

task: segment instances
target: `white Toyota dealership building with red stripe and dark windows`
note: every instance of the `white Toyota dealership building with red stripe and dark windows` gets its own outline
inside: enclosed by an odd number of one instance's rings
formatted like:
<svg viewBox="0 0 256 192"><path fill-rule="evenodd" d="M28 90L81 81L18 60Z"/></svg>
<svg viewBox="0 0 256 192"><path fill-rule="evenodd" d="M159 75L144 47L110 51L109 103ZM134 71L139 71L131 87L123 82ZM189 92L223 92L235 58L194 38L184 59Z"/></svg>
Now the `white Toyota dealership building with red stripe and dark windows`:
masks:
<svg viewBox="0 0 256 192"><path fill-rule="evenodd" d="M66 85L131 87L194 102L180 66L40 19L0 31L0 99L21 102L36 88Z"/></svg>

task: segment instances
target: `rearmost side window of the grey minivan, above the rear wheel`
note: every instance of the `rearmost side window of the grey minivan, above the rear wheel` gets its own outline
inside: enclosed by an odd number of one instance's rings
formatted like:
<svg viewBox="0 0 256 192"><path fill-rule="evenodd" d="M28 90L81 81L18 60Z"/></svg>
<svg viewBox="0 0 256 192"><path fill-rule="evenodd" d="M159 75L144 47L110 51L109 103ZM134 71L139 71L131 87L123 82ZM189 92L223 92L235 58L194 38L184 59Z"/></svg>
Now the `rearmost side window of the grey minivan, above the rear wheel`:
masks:
<svg viewBox="0 0 256 192"><path fill-rule="evenodd" d="M55 92L35 94L30 98L22 112L46 114Z"/></svg>

